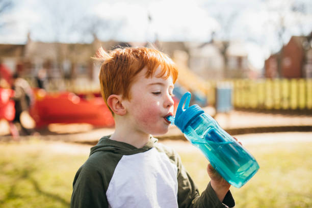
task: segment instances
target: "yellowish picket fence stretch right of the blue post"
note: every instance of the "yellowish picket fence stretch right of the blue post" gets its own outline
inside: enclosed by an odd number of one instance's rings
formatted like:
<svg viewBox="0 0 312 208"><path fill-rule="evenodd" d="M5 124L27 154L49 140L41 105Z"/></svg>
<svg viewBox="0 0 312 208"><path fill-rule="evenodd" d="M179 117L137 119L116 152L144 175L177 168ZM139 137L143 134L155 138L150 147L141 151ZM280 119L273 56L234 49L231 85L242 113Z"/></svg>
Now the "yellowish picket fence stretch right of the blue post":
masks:
<svg viewBox="0 0 312 208"><path fill-rule="evenodd" d="M311 110L312 79L232 80L235 108Z"/></svg>

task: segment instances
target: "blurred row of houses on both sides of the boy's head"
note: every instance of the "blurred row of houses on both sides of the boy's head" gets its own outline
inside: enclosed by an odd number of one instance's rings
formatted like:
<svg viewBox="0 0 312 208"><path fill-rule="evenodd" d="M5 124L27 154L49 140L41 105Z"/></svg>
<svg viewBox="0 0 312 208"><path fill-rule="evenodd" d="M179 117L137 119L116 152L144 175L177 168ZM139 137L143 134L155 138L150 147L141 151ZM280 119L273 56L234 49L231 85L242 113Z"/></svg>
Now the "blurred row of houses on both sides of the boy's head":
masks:
<svg viewBox="0 0 312 208"><path fill-rule="evenodd" d="M24 45L0 44L1 57L12 72L18 71L31 79L39 71L46 71L48 80L98 81L99 67L90 59L102 46L106 50L122 46L156 47L174 59L175 51L187 55L187 70L202 80L248 77L250 66L243 43L202 42L146 42L100 41L95 35L92 43L59 43L34 41L28 34Z"/></svg>

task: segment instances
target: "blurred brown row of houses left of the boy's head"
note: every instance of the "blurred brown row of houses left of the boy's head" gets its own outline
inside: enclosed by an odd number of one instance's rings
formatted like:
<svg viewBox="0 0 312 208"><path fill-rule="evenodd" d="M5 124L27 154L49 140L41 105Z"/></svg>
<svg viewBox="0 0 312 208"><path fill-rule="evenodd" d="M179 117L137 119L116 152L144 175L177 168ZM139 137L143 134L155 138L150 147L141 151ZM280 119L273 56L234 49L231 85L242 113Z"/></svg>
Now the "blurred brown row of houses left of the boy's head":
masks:
<svg viewBox="0 0 312 208"><path fill-rule="evenodd" d="M28 34L23 45L0 44L0 58L14 73L35 77L40 69L45 69L48 79L76 79L83 77L97 80L93 57L98 47L112 49L117 41L101 42L96 37L88 43L57 43L33 41Z"/></svg>

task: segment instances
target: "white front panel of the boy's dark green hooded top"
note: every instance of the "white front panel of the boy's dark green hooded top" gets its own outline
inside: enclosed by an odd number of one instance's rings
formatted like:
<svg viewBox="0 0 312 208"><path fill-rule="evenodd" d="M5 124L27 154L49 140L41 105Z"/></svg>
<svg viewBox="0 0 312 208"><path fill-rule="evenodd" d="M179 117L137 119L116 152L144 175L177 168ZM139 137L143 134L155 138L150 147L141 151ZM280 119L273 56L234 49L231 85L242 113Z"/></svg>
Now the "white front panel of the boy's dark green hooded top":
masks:
<svg viewBox="0 0 312 208"><path fill-rule="evenodd" d="M178 207L177 167L155 148L123 155L106 196L112 208Z"/></svg>

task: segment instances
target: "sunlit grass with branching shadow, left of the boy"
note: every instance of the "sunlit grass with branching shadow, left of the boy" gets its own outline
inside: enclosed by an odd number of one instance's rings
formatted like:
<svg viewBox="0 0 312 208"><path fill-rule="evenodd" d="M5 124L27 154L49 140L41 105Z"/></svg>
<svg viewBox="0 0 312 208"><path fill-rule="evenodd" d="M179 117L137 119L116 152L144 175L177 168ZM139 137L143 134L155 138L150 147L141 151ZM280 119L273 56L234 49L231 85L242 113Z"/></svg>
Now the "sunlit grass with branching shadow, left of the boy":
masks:
<svg viewBox="0 0 312 208"><path fill-rule="evenodd" d="M72 180L88 154L32 141L0 146L0 207L69 207Z"/></svg>

